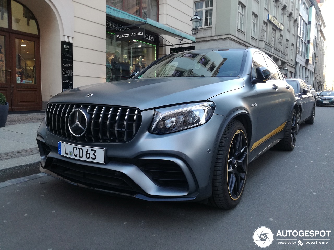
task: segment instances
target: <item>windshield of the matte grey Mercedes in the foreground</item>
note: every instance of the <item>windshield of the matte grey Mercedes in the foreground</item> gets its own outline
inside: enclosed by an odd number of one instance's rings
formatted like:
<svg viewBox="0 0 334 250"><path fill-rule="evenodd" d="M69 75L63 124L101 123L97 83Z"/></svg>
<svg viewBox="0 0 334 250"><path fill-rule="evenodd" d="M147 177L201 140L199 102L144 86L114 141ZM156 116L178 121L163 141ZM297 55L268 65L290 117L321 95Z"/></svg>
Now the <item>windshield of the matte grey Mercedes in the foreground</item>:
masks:
<svg viewBox="0 0 334 250"><path fill-rule="evenodd" d="M187 51L170 54L153 63L138 78L216 76L237 77L244 50L220 50L208 52Z"/></svg>

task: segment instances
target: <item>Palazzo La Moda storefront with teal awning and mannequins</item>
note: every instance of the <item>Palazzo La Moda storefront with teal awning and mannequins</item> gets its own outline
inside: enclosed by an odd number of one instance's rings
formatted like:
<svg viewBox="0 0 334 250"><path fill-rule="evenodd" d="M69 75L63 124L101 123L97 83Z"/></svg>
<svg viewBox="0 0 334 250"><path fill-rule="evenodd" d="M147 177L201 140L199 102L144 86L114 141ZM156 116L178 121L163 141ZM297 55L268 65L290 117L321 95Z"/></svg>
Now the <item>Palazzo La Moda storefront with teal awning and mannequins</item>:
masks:
<svg viewBox="0 0 334 250"><path fill-rule="evenodd" d="M146 4L144 2L135 1L122 5L107 1L107 81L126 80L131 73L154 62L158 58L159 47L166 46L159 41L161 34L178 38L180 41L195 41L193 36L157 22L158 9L155 1L147 1ZM134 12L135 15L131 14L134 9L138 10Z"/></svg>

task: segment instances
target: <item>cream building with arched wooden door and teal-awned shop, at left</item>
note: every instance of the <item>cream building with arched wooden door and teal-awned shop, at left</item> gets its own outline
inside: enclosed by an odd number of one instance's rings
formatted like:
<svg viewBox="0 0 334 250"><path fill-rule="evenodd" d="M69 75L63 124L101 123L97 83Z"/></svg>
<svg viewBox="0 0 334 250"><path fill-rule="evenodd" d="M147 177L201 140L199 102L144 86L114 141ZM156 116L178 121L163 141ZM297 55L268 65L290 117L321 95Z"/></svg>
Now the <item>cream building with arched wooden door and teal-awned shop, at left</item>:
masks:
<svg viewBox="0 0 334 250"><path fill-rule="evenodd" d="M169 54L166 44L194 42L192 4L0 0L0 92L9 110L45 110L47 101L62 91L124 79L139 59L147 65ZM110 71L113 58L119 74Z"/></svg>

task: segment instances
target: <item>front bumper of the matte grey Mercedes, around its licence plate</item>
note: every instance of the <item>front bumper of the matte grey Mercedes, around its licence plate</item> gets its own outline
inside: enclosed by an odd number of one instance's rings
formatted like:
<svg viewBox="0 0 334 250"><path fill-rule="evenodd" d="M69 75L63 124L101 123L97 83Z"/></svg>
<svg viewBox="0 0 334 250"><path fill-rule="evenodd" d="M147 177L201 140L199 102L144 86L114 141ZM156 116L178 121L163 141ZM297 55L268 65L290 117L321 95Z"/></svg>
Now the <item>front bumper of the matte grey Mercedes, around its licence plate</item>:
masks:
<svg viewBox="0 0 334 250"><path fill-rule="evenodd" d="M148 133L153 111L127 143L78 143L50 133L43 121L37 131L40 170L69 183L146 200L187 201L211 196L215 149L224 116L213 115L198 127L171 134ZM62 141L106 149L106 163L58 154Z"/></svg>

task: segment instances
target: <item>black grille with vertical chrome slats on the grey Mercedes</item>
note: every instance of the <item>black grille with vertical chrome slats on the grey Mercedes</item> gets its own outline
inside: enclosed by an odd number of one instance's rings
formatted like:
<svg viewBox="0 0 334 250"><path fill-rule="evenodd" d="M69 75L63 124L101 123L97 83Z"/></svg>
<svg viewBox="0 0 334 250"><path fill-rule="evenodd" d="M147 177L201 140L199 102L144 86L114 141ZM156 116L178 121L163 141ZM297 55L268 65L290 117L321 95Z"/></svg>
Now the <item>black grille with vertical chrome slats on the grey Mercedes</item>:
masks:
<svg viewBox="0 0 334 250"><path fill-rule="evenodd" d="M80 137L73 136L68 128L68 117L77 108L89 115L87 131ZM51 133L73 141L97 143L128 142L142 122L140 111L134 108L60 103L48 104L45 119Z"/></svg>

